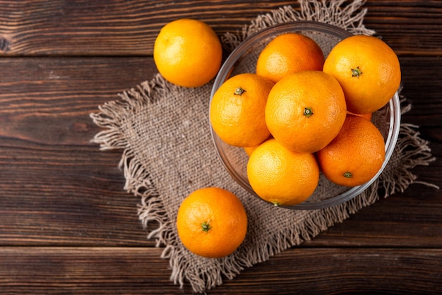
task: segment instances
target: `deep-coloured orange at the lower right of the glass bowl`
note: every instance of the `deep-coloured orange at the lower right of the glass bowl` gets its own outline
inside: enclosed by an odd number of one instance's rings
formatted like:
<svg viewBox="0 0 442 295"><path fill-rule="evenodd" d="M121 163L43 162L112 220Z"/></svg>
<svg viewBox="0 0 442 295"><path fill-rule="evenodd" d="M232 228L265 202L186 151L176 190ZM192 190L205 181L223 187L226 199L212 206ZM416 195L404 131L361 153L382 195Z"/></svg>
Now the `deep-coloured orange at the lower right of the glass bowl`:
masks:
<svg viewBox="0 0 442 295"><path fill-rule="evenodd" d="M321 171L333 183L359 186L373 178L385 159L381 132L371 121L348 114L338 136L316 153Z"/></svg>

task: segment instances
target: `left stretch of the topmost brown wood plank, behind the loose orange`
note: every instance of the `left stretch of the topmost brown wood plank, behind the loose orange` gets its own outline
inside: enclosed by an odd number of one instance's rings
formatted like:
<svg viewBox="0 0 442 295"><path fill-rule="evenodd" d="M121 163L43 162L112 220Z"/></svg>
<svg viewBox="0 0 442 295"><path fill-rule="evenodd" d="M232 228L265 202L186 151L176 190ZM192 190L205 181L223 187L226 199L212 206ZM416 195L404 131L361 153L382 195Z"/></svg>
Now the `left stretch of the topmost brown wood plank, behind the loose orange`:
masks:
<svg viewBox="0 0 442 295"><path fill-rule="evenodd" d="M222 34L289 3L292 1L0 1L1 52L151 55L160 28L176 18L201 19Z"/></svg>

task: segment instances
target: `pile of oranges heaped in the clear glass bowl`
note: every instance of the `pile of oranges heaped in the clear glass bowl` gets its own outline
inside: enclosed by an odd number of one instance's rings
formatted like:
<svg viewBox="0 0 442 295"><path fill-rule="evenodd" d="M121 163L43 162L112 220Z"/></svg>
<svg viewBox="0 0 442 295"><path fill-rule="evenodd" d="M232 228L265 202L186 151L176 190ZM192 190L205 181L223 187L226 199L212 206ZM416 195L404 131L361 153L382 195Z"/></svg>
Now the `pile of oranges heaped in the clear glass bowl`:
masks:
<svg viewBox="0 0 442 295"><path fill-rule="evenodd" d="M257 195L295 205L316 190L321 172L340 186L377 174L385 143L371 114L399 85L398 56L376 37L347 37L325 58L314 40L289 32L262 50L255 73L222 83L210 123L221 140L246 150Z"/></svg>

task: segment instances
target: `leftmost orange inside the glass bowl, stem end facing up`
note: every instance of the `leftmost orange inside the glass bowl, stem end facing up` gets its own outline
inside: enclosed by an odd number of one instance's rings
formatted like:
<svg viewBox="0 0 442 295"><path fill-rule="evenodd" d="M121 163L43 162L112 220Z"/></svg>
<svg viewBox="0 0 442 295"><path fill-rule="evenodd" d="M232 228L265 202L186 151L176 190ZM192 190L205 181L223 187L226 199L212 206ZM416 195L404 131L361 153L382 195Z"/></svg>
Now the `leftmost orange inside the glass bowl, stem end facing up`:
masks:
<svg viewBox="0 0 442 295"><path fill-rule="evenodd" d="M252 147L270 136L265 104L273 82L253 73L241 73L222 83L210 102L210 124L229 145Z"/></svg>

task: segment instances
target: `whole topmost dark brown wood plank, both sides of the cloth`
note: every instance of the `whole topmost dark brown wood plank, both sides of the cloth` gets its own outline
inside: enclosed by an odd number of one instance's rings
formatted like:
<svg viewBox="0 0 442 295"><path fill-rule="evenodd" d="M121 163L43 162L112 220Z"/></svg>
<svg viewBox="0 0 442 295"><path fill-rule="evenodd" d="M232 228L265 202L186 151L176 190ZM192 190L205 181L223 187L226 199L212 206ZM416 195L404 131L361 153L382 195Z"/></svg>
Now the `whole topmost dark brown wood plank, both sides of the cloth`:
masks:
<svg viewBox="0 0 442 295"><path fill-rule="evenodd" d="M163 25L198 18L218 35L297 1L0 1L0 54L151 55ZM440 55L441 1L375 1L364 7L374 29L399 54Z"/></svg>

